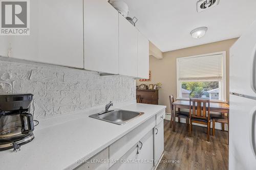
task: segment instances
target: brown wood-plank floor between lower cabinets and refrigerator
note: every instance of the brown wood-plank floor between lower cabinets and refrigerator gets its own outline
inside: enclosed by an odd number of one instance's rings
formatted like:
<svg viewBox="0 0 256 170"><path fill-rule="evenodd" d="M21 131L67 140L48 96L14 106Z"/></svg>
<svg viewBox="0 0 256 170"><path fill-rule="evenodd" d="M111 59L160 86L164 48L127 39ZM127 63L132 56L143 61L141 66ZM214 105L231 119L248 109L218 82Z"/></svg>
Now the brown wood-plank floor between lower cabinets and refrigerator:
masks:
<svg viewBox="0 0 256 170"><path fill-rule="evenodd" d="M170 169L228 169L227 132L216 130L207 141L206 128L193 126L188 137L185 124L177 123L176 132L164 120L164 156L157 170ZM177 162L169 162L177 160ZM166 162L164 162L166 161Z"/></svg>

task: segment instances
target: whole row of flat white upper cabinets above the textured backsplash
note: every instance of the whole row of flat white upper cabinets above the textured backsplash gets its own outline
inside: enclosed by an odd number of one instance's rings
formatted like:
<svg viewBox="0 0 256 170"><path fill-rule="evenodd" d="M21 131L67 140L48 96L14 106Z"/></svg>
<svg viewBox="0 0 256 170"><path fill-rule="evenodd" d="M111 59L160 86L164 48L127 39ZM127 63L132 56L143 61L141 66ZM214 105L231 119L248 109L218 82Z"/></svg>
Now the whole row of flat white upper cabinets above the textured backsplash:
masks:
<svg viewBox="0 0 256 170"><path fill-rule="evenodd" d="M144 79L148 48L106 0L30 1L30 35L0 38L0 56Z"/></svg>

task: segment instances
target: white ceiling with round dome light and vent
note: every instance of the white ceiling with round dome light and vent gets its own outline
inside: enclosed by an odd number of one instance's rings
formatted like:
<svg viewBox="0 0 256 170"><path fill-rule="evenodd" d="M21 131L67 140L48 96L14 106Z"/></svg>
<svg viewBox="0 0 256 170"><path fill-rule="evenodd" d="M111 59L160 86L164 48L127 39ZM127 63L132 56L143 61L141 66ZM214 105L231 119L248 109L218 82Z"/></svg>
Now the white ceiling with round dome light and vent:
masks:
<svg viewBox="0 0 256 170"><path fill-rule="evenodd" d="M240 37L256 19L255 0L220 0L220 4L198 13L197 0L124 0L136 27L162 52ZM194 39L190 31L208 27L204 37Z"/></svg>

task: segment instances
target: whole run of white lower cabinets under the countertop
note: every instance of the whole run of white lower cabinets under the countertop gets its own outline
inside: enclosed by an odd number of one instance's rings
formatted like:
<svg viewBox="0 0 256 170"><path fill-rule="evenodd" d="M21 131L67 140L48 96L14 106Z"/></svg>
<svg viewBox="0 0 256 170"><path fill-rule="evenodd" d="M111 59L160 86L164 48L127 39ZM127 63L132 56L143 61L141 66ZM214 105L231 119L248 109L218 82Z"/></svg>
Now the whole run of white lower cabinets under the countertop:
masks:
<svg viewBox="0 0 256 170"><path fill-rule="evenodd" d="M164 151L164 111L127 133L90 160L108 160L103 163L89 161L76 168L111 170L151 170ZM157 125L156 125L157 123Z"/></svg>

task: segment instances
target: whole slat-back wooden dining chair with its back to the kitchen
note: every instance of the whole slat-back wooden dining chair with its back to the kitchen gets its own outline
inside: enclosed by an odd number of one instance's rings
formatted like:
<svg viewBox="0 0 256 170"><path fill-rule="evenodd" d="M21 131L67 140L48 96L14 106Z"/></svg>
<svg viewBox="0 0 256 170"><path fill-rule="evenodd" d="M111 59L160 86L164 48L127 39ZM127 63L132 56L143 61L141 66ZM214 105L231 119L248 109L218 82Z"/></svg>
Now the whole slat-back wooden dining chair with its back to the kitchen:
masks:
<svg viewBox="0 0 256 170"><path fill-rule="evenodd" d="M191 105L192 103L192 105ZM206 106L207 105L207 106ZM210 141L210 100L189 99L189 136L191 136L192 123L207 126L207 141ZM206 107L208 109L206 110ZM206 111L208 114L206 114Z"/></svg>

